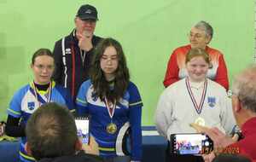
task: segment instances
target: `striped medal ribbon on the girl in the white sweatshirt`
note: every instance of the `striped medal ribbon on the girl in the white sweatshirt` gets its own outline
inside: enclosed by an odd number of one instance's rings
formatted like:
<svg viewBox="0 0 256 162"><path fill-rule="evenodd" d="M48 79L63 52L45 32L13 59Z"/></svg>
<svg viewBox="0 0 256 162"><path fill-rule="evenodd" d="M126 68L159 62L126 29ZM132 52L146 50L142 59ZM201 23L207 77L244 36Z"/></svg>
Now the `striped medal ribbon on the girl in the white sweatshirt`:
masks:
<svg viewBox="0 0 256 162"><path fill-rule="evenodd" d="M187 86L187 90L189 92L190 99L191 99L191 101L192 101L192 103L193 103L193 105L195 107L196 113L200 114L201 113L201 109L202 109L202 107L204 105L206 94L207 94L207 79L205 79L205 82L204 82L204 89L203 89L202 94L201 94L201 101L200 101L199 106L196 103L195 97L194 97L193 92L191 90L191 87L190 87L190 84L189 84L189 78L186 78L186 86Z"/></svg>

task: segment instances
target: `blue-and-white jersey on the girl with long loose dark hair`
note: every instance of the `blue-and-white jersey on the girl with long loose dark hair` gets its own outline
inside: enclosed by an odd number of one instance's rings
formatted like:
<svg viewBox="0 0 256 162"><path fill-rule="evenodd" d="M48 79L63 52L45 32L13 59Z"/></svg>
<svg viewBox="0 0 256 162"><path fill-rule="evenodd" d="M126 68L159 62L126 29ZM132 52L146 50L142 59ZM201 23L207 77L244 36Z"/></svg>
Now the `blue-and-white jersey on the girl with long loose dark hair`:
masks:
<svg viewBox="0 0 256 162"><path fill-rule="evenodd" d="M90 115L90 133L96 138L100 156L125 155L122 150L122 144L124 144L122 141L125 131L129 128L131 129L131 159L141 159L143 102L135 84L130 82L125 95L117 101L112 119L105 102L94 94L90 80L81 85L76 102L79 115ZM107 131L108 124L111 123L117 126L117 131L113 134Z"/></svg>

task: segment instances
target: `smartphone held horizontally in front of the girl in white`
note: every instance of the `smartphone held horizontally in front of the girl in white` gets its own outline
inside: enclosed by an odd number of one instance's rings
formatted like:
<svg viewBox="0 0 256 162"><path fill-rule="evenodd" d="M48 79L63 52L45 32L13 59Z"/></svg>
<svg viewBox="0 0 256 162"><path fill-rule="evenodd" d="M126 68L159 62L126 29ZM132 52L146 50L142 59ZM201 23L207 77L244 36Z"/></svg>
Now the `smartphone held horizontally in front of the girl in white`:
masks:
<svg viewBox="0 0 256 162"><path fill-rule="evenodd" d="M213 150L211 138L201 133L184 133L171 135L171 153L174 154L207 154Z"/></svg>

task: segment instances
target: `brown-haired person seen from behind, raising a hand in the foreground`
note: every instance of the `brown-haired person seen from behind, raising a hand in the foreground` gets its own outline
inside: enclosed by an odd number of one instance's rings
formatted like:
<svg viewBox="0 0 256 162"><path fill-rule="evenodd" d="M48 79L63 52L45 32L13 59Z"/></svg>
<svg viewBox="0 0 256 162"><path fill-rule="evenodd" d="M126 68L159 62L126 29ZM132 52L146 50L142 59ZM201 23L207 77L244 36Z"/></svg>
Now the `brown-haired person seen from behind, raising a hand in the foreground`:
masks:
<svg viewBox="0 0 256 162"><path fill-rule="evenodd" d="M93 137L84 146L73 115L57 103L38 107L26 124L26 152L39 162L101 162ZM85 151L85 153L84 153Z"/></svg>

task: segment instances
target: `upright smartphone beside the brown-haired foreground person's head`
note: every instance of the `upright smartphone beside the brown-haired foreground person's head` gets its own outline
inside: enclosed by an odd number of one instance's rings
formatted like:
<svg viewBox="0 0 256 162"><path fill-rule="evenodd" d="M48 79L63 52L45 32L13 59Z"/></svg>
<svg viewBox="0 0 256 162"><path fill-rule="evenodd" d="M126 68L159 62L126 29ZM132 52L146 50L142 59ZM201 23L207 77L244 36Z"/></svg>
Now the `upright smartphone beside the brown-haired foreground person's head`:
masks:
<svg viewBox="0 0 256 162"><path fill-rule="evenodd" d="M78 130L78 136L83 142L83 144L89 144L90 140L90 131L89 131L89 125L90 120L88 117L78 117L75 118L75 123Z"/></svg>

